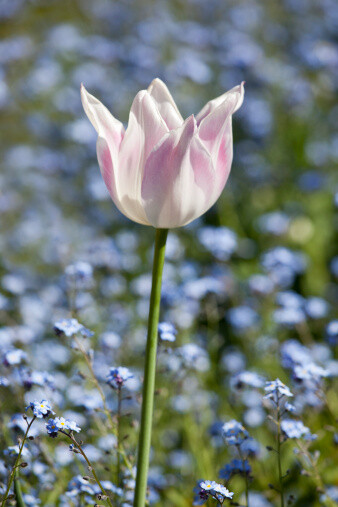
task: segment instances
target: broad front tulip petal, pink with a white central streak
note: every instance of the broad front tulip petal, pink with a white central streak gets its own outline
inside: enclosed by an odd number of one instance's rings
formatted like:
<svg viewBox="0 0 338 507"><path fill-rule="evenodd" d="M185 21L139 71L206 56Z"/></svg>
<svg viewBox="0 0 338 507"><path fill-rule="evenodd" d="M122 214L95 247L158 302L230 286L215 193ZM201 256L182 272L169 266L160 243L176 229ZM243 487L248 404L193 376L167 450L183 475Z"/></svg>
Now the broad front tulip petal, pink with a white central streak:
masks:
<svg viewBox="0 0 338 507"><path fill-rule="evenodd" d="M188 224L213 203L215 171L189 117L149 155L142 182L143 207L154 227Z"/></svg>

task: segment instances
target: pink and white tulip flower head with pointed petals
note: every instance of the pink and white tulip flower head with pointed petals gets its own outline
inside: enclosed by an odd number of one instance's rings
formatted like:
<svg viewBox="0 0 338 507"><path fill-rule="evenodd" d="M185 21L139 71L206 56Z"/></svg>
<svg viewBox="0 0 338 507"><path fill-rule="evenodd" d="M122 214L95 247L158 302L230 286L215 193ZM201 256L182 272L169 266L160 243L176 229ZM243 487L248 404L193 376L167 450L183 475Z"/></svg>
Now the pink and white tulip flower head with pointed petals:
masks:
<svg viewBox="0 0 338 507"><path fill-rule="evenodd" d="M155 79L136 95L126 130L83 85L81 98L98 133L103 179L121 213L170 229L217 201L231 169L232 115L242 105L244 83L184 121L166 85Z"/></svg>

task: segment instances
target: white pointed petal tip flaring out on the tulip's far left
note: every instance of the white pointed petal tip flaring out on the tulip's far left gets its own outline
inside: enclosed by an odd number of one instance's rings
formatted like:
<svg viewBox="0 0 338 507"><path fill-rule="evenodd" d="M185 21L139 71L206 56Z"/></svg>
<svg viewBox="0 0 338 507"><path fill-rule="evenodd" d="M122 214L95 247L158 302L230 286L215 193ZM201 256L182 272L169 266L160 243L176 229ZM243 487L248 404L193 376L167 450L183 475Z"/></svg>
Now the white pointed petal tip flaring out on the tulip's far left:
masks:
<svg viewBox="0 0 338 507"><path fill-rule="evenodd" d="M122 123L114 118L108 109L87 92L81 85L81 100L86 115L100 137L107 140L112 156L115 159L124 136Z"/></svg>

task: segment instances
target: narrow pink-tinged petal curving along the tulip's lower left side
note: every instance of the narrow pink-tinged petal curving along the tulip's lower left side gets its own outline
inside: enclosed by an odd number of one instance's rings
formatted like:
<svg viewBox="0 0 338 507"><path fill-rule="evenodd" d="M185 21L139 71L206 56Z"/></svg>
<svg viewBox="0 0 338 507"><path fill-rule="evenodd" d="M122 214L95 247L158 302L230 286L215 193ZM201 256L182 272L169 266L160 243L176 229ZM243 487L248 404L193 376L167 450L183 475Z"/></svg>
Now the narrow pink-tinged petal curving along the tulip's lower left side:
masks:
<svg viewBox="0 0 338 507"><path fill-rule="evenodd" d="M150 225L148 220L144 220L143 210L139 214L137 206L134 205L132 200L119 194L117 168L114 167L111 151L107 141L103 137L98 137L97 139L96 152L103 180L116 207L130 220L143 225Z"/></svg>

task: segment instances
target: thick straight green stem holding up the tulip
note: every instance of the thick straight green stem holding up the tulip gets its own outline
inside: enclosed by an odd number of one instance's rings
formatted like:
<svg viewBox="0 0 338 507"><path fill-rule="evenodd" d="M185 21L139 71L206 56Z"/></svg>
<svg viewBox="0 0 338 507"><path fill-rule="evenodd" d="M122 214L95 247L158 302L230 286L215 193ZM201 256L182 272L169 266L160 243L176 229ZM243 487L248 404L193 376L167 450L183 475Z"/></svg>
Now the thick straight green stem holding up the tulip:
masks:
<svg viewBox="0 0 338 507"><path fill-rule="evenodd" d="M168 229L156 229L134 507L144 507L146 500L154 407L158 321L160 315L162 271L167 235Z"/></svg>

